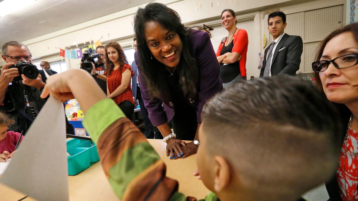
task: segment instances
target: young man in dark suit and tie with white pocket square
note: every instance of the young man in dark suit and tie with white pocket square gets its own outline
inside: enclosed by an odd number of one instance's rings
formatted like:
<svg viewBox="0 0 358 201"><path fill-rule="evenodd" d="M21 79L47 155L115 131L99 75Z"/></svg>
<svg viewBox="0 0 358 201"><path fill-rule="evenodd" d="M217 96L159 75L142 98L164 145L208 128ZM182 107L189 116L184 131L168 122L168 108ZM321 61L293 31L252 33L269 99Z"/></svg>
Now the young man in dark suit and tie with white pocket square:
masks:
<svg viewBox="0 0 358 201"><path fill-rule="evenodd" d="M260 78L279 74L296 75L303 51L302 38L284 33L286 15L281 11L271 13L268 24L274 41L265 49Z"/></svg>

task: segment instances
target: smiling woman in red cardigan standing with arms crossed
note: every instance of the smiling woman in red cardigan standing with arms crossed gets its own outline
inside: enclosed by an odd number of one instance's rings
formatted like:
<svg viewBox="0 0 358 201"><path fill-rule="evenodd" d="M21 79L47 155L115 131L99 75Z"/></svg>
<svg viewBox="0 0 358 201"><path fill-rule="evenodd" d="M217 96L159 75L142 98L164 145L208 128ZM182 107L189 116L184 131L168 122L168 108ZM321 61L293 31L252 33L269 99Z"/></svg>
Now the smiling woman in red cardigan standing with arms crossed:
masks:
<svg viewBox="0 0 358 201"><path fill-rule="evenodd" d="M220 64L220 78L226 88L240 80L246 80L247 32L236 27L236 15L231 9L221 13L221 24L228 31L216 52Z"/></svg>

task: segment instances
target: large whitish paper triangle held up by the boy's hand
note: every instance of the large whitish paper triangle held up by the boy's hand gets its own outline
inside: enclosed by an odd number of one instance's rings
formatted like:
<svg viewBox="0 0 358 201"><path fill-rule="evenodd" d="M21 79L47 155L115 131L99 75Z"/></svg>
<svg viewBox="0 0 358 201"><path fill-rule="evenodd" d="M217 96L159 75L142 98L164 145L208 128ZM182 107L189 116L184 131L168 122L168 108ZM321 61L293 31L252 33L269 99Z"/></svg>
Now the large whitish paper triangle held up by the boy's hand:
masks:
<svg viewBox="0 0 358 201"><path fill-rule="evenodd" d="M69 200L66 124L59 100L47 100L0 182L39 201Z"/></svg>

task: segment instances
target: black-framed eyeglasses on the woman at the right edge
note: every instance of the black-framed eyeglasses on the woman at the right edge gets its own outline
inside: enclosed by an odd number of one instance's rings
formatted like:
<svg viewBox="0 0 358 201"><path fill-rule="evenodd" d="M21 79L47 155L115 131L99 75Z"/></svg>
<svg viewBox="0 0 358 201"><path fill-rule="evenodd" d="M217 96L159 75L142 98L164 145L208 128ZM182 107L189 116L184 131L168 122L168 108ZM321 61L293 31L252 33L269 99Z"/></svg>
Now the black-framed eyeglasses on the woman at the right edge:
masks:
<svg viewBox="0 0 358 201"><path fill-rule="evenodd" d="M338 69L353 67L358 64L358 53L345 54L332 60L320 60L313 62L312 69L317 73L323 72L328 68L331 62L334 67Z"/></svg>

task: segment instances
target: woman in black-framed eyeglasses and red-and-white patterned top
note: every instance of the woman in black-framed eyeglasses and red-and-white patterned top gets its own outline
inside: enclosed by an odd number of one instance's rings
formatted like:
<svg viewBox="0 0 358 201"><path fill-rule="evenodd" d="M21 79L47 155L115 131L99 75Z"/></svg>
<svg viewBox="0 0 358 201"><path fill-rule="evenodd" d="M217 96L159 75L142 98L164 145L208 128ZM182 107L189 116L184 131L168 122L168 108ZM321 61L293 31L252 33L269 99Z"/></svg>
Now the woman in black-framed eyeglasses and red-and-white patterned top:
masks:
<svg viewBox="0 0 358 201"><path fill-rule="evenodd" d="M312 63L316 82L342 114L339 167L326 184L330 200L358 200L358 23L333 31Z"/></svg>

